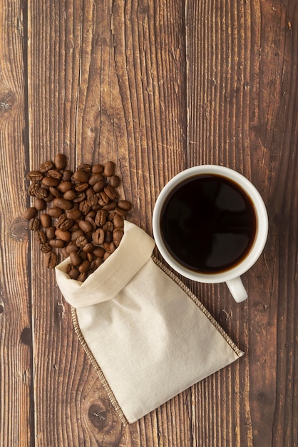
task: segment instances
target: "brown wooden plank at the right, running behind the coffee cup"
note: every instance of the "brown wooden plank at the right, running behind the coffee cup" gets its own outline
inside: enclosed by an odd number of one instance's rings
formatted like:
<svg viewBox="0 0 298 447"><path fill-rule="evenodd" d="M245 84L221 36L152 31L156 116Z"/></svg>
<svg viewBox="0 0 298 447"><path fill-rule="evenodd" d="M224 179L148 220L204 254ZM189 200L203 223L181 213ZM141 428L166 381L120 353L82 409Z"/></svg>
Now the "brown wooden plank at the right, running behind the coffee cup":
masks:
<svg viewBox="0 0 298 447"><path fill-rule="evenodd" d="M270 222L246 303L225 285L195 288L246 352L195 387L197 445L297 445L297 12L295 1L187 4L188 164L240 171Z"/></svg>

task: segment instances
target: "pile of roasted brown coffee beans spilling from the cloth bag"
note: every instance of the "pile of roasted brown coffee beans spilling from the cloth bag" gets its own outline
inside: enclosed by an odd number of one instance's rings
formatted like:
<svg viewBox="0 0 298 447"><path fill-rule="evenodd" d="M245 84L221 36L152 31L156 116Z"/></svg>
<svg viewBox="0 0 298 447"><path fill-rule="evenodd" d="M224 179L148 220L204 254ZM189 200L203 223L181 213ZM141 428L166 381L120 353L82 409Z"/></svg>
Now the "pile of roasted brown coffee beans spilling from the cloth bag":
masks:
<svg viewBox="0 0 298 447"><path fill-rule="evenodd" d="M68 275L83 282L119 246L131 204L119 198L113 161L82 164L76 171L66 166L66 156L57 154L27 174L32 206L24 218L45 253L46 267L57 265L61 251L70 258Z"/></svg>

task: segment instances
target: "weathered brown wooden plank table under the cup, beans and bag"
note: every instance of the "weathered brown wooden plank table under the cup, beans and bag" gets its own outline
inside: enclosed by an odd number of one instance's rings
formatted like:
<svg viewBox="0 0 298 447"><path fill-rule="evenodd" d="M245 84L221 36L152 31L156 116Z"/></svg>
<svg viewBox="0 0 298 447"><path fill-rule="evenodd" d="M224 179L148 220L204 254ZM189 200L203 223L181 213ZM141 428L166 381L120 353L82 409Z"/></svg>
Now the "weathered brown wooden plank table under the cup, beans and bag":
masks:
<svg viewBox="0 0 298 447"><path fill-rule="evenodd" d="M298 446L297 39L296 0L1 1L1 446ZM58 152L115 161L150 234L197 164L240 171L269 213L245 303L184 280L245 356L130 426L22 217L26 173Z"/></svg>

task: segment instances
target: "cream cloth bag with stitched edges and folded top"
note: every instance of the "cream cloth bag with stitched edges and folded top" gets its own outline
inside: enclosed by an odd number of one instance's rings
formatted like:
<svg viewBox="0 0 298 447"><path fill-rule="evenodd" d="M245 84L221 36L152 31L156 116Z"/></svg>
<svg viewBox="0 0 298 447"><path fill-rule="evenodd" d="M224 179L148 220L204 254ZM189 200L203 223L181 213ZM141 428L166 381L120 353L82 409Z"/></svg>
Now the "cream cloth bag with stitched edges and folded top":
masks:
<svg viewBox="0 0 298 447"><path fill-rule="evenodd" d="M133 423L242 356L192 292L125 221L117 250L81 283L56 267L83 348L123 423Z"/></svg>

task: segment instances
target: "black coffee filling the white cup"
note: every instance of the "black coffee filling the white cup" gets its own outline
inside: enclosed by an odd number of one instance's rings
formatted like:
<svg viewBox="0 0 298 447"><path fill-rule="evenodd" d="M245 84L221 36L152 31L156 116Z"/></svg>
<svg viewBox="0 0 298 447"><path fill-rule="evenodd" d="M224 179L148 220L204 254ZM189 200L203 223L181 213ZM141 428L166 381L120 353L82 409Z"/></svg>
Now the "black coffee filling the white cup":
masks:
<svg viewBox="0 0 298 447"><path fill-rule="evenodd" d="M252 201L237 184L214 174L193 176L171 191L160 219L168 251L183 266L220 273L250 251L256 232Z"/></svg>

